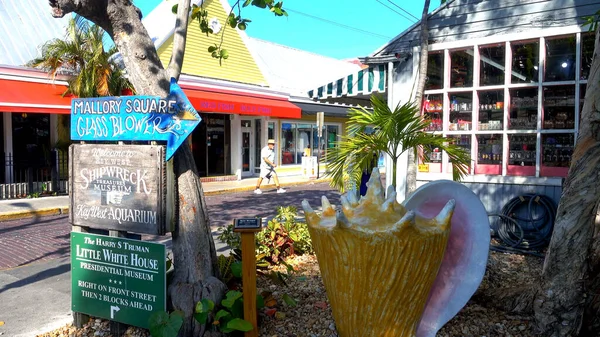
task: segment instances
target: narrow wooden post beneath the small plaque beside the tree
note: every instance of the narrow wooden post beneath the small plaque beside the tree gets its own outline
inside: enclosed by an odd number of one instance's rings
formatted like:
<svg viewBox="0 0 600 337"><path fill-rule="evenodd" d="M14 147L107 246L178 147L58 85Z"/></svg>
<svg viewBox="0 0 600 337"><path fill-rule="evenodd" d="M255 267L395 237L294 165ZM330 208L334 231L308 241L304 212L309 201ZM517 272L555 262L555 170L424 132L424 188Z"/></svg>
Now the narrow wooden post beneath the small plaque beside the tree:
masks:
<svg viewBox="0 0 600 337"><path fill-rule="evenodd" d="M242 232L242 283L244 294L244 319L253 329L245 337L258 337L256 321L256 256L254 255L254 232Z"/></svg>

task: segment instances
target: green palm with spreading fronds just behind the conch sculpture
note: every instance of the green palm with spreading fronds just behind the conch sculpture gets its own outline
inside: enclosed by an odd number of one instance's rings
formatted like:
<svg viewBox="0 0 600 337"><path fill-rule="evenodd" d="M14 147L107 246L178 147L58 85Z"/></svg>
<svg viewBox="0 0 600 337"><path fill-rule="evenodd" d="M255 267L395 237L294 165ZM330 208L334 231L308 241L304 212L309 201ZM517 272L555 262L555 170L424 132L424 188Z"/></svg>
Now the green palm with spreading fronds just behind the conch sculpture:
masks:
<svg viewBox="0 0 600 337"><path fill-rule="evenodd" d="M415 158L422 160L430 149L446 151L452 163L452 178L460 180L468 173L470 153L455 145L453 139L425 132L429 121L423 119L413 102L398 104L391 110L379 96L372 95L371 104L372 111L349 111L348 135L342 136L325 156L331 186L340 191L347 185L357 186L362 173L372 168L373 158L381 153L392 159L392 185L396 186L397 161L407 150L413 150Z"/></svg>

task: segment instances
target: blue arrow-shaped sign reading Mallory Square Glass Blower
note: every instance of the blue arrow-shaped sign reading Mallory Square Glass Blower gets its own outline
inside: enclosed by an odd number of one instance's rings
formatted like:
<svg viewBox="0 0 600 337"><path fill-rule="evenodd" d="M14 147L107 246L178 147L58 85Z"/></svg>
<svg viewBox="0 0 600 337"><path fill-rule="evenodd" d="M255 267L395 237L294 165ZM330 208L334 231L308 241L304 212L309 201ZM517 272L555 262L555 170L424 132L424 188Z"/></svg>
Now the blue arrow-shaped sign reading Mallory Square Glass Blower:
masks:
<svg viewBox="0 0 600 337"><path fill-rule="evenodd" d="M201 120L175 79L171 79L167 98L120 96L71 101L72 140L166 141L166 160Z"/></svg>

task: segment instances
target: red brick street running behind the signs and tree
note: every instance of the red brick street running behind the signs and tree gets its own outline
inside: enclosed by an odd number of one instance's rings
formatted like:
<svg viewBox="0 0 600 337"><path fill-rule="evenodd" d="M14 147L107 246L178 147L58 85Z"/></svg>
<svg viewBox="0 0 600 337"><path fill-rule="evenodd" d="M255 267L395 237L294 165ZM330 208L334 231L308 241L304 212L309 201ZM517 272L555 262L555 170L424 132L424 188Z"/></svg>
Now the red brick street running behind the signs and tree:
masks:
<svg viewBox="0 0 600 337"><path fill-rule="evenodd" d="M277 194L275 190L263 192L261 195L242 192L206 197L213 233L234 218L270 218L276 214L277 206L294 205L301 210L303 199L315 208L320 207L322 195L339 203L339 193L327 183L291 186L283 194ZM65 215L1 222L0 270L68 257L70 231ZM143 240L164 242L169 241L169 236L144 235Z"/></svg>

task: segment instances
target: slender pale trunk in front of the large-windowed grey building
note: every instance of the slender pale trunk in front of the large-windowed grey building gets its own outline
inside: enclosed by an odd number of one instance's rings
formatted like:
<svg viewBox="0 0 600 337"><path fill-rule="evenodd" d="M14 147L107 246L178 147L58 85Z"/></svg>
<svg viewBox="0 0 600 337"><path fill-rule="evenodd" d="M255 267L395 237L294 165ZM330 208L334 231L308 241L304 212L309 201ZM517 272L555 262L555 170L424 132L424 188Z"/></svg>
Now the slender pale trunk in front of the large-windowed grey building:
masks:
<svg viewBox="0 0 600 337"><path fill-rule="evenodd" d="M423 92L425 91L425 80L427 78L427 60L429 56L429 24L427 13L429 12L429 0L425 0L423 14L421 15L421 55L419 56L419 79L417 80L417 92L415 93L415 104L421 113L423 106ZM406 195L408 198L417 189L417 158L414 151L408 151L408 167L406 169Z"/></svg>

